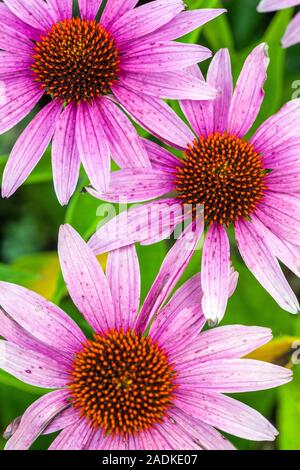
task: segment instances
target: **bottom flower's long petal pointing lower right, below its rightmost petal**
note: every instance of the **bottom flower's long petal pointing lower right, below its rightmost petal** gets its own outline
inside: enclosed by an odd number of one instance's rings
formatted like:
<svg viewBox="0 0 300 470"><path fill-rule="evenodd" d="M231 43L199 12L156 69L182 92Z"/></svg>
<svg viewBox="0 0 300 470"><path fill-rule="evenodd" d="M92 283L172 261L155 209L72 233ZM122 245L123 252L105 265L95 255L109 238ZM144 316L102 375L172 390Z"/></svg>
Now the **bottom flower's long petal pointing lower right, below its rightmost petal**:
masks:
<svg viewBox="0 0 300 470"><path fill-rule="evenodd" d="M273 441L278 434L260 413L218 393L190 391L177 406L206 424L251 441Z"/></svg>

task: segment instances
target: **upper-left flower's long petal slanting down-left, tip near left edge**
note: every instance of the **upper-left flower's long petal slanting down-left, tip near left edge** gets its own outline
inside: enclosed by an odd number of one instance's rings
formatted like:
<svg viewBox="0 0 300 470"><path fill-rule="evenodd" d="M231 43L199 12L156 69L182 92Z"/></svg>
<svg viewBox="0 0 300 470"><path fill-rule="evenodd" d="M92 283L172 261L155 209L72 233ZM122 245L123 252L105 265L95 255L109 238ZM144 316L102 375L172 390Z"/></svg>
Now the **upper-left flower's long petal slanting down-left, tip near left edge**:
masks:
<svg viewBox="0 0 300 470"><path fill-rule="evenodd" d="M42 158L52 139L61 109L61 104L51 101L20 135L3 173L2 197L10 197Z"/></svg>

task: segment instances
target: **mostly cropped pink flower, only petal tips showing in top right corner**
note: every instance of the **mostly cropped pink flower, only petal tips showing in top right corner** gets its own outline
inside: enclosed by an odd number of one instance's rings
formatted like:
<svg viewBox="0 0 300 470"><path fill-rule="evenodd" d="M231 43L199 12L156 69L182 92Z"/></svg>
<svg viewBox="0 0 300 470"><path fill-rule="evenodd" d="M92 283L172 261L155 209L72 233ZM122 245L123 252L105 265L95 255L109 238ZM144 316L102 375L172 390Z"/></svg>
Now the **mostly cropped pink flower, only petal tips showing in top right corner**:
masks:
<svg viewBox="0 0 300 470"><path fill-rule="evenodd" d="M299 0L261 0L257 7L257 11L260 13L266 13L298 5L300 5ZM298 43L300 43L300 12L292 19L282 38L283 47L294 46Z"/></svg>

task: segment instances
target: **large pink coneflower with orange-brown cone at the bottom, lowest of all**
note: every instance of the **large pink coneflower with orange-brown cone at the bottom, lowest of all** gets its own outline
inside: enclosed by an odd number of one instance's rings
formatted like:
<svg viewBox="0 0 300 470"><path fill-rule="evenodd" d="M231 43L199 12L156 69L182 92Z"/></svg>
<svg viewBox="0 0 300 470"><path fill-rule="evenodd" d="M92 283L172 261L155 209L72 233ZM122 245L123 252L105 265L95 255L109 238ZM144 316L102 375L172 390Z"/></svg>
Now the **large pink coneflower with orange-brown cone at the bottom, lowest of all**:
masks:
<svg viewBox="0 0 300 470"><path fill-rule="evenodd" d="M277 432L224 393L262 390L291 379L288 369L241 359L268 342L265 328L205 324L199 275L173 291L187 259L183 234L167 255L139 312L134 246L109 254L106 275L70 226L59 256L72 300L94 335L87 339L60 308L25 288L0 283L0 366L54 389L10 425L6 449L28 449L61 431L50 449L233 449L215 429L251 440ZM195 237L195 243L197 237ZM230 294L236 285L232 272Z"/></svg>

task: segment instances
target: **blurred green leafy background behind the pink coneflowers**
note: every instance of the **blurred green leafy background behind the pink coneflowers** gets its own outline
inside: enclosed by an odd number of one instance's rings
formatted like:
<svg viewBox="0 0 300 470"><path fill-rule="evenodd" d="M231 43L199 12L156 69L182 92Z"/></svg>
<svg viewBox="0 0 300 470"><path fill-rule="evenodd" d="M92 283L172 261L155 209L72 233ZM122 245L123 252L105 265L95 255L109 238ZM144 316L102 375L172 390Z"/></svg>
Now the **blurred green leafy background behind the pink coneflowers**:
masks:
<svg viewBox="0 0 300 470"><path fill-rule="evenodd" d="M295 92L293 83L300 80L300 46L287 51L280 47L280 39L293 9L262 15L256 12L257 0L186 0L186 3L190 8L228 9L227 15L188 35L184 40L207 45L213 52L228 47L235 78L250 50L262 41L269 44L271 64L265 86L265 102L255 124L257 127L292 98ZM202 70L205 72L206 68L207 64L204 63ZM178 111L176 103L170 104ZM30 117L0 137L1 173L13 143L29 120ZM86 177L82 173L78 191L69 206L60 207L52 184L49 151L26 184L11 199L0 200L0 279L39 292L59 304L81 324L83 322L78 312L66 295L56 256L56 244L60 224L72 224L87 239L100 222L96 216L100 203L82 192L85 184ZM167 241L151 247L138 247L143 296L154 280L170 243ZM240 280L222 323L271 327L275 341L256 356L291 366L293 342L300 338L300 316L292 317L282 311L249 274L234 249L232 256L234 266L240 272ZM197 252L181 282L199 271L200 260L201 252ZM104 263L105 259L101 261ZM286 275L300 296L299 280L289 271L286 271ZM262 412L280 431L275 443L257 444L231 438L238 449L300 449L300 366L294 367L294 371L294 382L285 387L274 391L241 394L238 397ZM0 434L2 435L11 420L21 415L43 393L43 390L24 385L0 372ZM52 439L53 436L42 437L33 448L45 449ZM0 448L3 445L4 440L0 437Z"/></svg>

